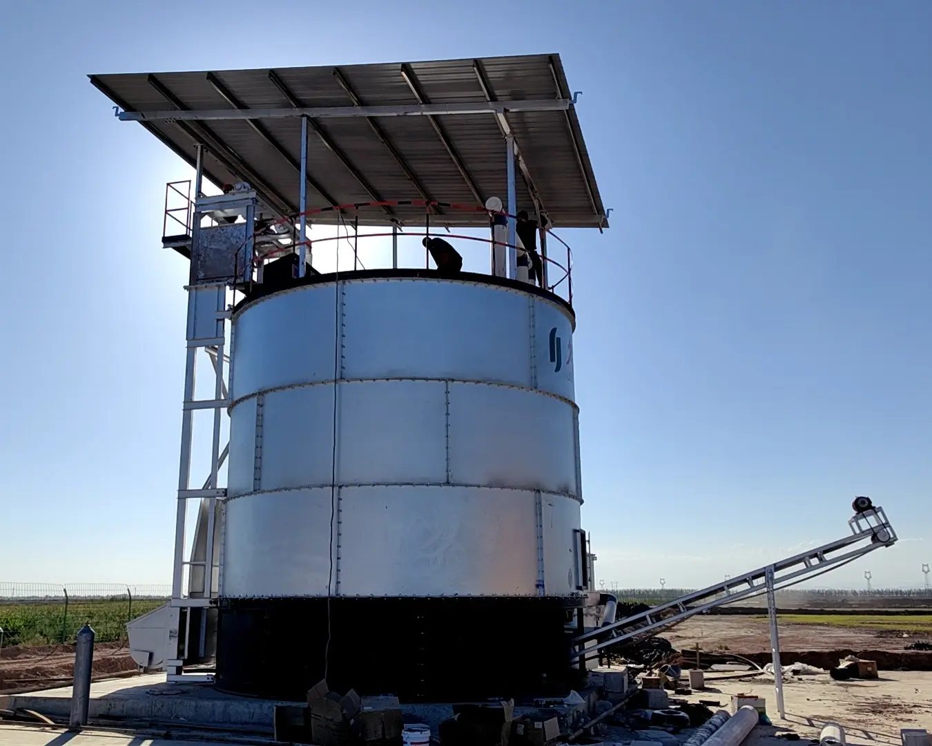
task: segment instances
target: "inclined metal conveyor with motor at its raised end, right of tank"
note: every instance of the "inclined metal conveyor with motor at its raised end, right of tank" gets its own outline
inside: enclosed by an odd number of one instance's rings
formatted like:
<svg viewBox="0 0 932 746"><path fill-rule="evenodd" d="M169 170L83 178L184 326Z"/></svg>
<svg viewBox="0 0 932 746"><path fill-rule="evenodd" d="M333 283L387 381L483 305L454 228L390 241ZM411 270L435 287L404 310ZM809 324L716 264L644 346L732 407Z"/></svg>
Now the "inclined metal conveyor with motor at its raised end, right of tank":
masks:
<svg viewBox="0 0 932 746"><path fill-rule="evenodd" d="M865 504L858 503L858 501L867 502ZM856 515L848 520L851 535L793 557L781 559L750 573L736 575L714 586L696 590L674 601L654 606L646 612L627 616L613 624L578 635L572 641L570 661L575 663L581 658L595 657L602 648L617 645L620 642L632 642L638 638L651 637L660 629L677 624L692 615L702 614L726 603L766 593L768 586L773 591L795 585L862 557L874 549L892 546L897 541L897 534L893 531L882 507L879 505L874 507L868 498L857 498L855 509ZM861 542L867 544L843 551ZM770 583L768 583L768 573L772 578Z"/></svg>

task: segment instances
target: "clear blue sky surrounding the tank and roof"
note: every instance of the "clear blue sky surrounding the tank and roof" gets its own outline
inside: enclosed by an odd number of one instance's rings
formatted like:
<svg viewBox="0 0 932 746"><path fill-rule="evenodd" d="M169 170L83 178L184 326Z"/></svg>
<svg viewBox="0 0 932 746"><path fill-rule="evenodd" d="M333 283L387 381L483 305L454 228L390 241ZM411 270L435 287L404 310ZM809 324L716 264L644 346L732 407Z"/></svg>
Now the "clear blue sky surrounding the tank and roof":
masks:
<svg viewBox="0 0 932 746"><path fill-rule="evenodd" d="M167 582L179 159L88 73L554 52L612 228L570 235L597 573L696 586L846 531L932 559L932 4L7 3L0 579ZM400 9L404 7L404 12ZM274 10L273 10L274 8Z"/></svg>

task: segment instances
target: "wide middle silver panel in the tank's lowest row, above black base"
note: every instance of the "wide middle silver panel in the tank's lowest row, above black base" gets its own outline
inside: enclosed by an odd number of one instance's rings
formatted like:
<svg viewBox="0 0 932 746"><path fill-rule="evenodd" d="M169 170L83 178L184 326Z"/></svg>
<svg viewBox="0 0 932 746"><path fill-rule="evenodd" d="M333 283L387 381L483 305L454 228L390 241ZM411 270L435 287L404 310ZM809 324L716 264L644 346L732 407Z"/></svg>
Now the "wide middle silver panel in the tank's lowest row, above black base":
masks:
<svg viewBox="0 0 932 746"><path fill-rule="evenodd" d="M463 487L344 488L339 591L532 596L534 493Z"/></svg>

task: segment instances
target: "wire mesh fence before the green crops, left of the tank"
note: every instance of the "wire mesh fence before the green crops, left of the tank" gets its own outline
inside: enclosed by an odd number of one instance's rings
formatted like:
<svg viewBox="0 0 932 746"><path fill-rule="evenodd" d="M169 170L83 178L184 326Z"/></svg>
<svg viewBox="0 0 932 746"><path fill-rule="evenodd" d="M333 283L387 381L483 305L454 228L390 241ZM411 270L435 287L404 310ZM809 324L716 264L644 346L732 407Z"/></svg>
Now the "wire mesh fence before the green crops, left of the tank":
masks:
<svg viewBox="0 0 932 746"><path fill-rule="evenodd" d="M171 586L0 581L3 645L72 642L86 622L97 642L118 642L126 638L127 622L170 597Z"/></svg>

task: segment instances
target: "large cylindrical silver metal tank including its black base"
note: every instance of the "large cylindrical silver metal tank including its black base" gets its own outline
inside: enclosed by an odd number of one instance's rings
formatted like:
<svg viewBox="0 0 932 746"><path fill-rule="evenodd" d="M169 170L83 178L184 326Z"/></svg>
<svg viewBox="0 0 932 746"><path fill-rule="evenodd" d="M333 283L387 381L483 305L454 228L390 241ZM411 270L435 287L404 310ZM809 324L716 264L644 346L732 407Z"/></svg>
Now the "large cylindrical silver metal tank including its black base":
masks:
<svg viewBox="0 0 932 746"><path fill-rule="evenodd" d="M456 665L499 671L482 678L503 694L527 661L497 647L562 647L582 578L573 325L526 283L405 270L236 311L221 686L288 696L326 670L337 688L435 698L438 656L469 651ZM409 644L386 665L419 673L360 681L353 648L372 661L375 640ZM270 645L291 672L269 670ZM454 675L448 695L484 686Z"/></svg>

